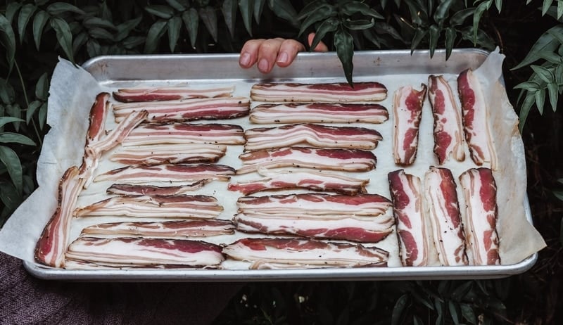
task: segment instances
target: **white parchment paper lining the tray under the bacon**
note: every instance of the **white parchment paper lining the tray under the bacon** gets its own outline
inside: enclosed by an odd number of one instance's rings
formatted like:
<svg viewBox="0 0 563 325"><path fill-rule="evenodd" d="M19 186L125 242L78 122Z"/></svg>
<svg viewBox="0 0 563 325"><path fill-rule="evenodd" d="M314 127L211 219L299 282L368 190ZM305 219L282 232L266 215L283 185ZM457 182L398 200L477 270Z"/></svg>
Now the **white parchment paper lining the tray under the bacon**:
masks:
<svg viewBox="0 0 563 325"><path fill-rule="evenodd" d="M495 134L495 148L498 155L498 169L495 171L495 179L498 183L498 206L499 220L498 232L500 235L500 256L503 265L510 265L521 262L529 255L538 252L545 247L545 242L538 231L528 222L525 213L526 197L526 164L524 156L524 146L518 132L518 119L508 101L505 88L500 82L502 75L502 60L504 56L494 51L491 53L481 68L476 70L476 75L482 83L483 89L488 96L488 103L491 110L491 128ZM379 193L389 198L388 183L386 174L399 167L394 165L392 158L392 98L393 91L406 84L412 84L418 88L420 84L427 82L428 75L388 75L378 76L377 81L382 82L388 88L388 98L381 104L388 108L390 117L388 122L383 125L358 125L360 127L374 127L384 137L378 148L374 150L378 162L377 170L369 174L370 183L369 193ZM450 82L453 89L457 89L457 75L444 75ZM322 80L322 82L341 82L341 79ZM357 78L356 81L364 81ZM373 81L373 80L371 80ZM47 122L51 126L49 134L44 139L44 146L39 157L37 179L39 188L32 193L30 198L20 205L14 212L3 229L0 230L0 250L9 255L13 255L22 260L33 262L33 250L44 225L51 217L56 207L57 186L63 172L72 165L80 165L84 152L84 136L88 127L89 108L94 101L96 94L101 91L111 91L115 87L131 87L142 84L143 82L125 82L122 84L100 84L87 71L75 67L66 60L61 59L53 72L51 87L49 89L49 115ZM146 85L169 85L169 81L151 81ZM201 85L199 85L201 86ZM251 83L236 84L235 96L248 96ZM107 129L111 129L115 123L108 117ZM229 123L237 123L244 129L257 127L249 125L248 119L229 120ZM419 134L419 151L415 165L405 168L406 172L424 177L424 172L429 165L436 165L436 158L432 152L434 138L432 135L433 117L428 101L425 101L421 130ZM237 151L239 150L239 151ZM236 159L241 149L229 148L227 157L219 163L239 167L240 162ZM475 167L469 158L469 151L466 148L466 161L464 163L447 163L454 176L459 175L470 167ZM115 163L103 163L99 166L99 173L105 172L115 166ZM356 175L351 175L356 176ZM358 177L365 177L358 175ZM255 178L248 175L241 175L240 179ZM89 189L82 193L78 205L94 203L103 198L103 193L107 184L92 184ZM224 200L227 208L220 217L230 219L234 214L234 203L236 195L225 194L226 185L214 182L205 186L205 194L217 194ZM458 186L458 197L460 206L463 207L462 192ZM229 208L230 207L230 208ZM114 218L115 220L120 218ZM108 222L110 220L104 220ZM113 219L111 220L113 221ZM71 241L80 229L88 224L93 224L96 218L79 219L73 221L71 231ZM236 234L234 236L219 236L206 240L215 243L230 243L243 236L260 236ZM384 248L391 253L389 266L399 266L396 236L388 236L378 247ZM245 265L225 265L226 267L246 267Z"/></svg>

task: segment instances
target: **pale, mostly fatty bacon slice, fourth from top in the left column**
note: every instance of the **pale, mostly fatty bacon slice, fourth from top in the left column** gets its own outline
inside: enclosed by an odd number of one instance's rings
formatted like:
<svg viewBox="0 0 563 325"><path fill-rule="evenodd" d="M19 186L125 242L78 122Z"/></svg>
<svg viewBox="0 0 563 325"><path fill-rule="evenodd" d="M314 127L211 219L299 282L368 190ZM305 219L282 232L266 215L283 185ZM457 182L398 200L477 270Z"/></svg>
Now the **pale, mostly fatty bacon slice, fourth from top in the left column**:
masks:
<svg viewBox="0 0 563 325"><path fill-rule="evenodd" d="M124 165L217 163L227 146L213 144L164 144L122 147L110 160Z"/></svg>

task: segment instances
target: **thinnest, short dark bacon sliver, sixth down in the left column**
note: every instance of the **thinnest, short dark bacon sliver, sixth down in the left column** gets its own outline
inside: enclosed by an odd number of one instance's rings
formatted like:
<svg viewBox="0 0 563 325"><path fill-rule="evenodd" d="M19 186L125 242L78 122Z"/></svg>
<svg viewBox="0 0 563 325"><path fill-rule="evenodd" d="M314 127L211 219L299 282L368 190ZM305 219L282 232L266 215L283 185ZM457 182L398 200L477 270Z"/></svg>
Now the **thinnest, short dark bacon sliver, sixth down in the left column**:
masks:
<svg viewBox="0 0 563 325"><path fill-rule="evenodd" d="M113 184L108 187L106 193L117 194L122 196L173 196L189 193L196 189L201 189L207 179L201 179L192 184L184 184L179 186L154 186L146 184Z"/></svg>

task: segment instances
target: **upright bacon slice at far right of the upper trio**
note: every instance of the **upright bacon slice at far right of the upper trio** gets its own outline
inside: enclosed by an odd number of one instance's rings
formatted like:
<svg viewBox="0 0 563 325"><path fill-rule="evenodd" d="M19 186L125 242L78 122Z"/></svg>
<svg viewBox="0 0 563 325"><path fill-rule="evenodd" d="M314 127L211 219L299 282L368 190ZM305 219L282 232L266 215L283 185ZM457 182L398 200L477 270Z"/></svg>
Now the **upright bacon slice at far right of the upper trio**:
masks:
<svg viewBox="0 0 563 325"><path fill-rule="evenodd" d="M487 103L479 79L471 69L462 71L457 77L457 90L462 102L462 121L471 158L479 166L491 163L491 169L495 170L497 158L488 125Z"/></svg>

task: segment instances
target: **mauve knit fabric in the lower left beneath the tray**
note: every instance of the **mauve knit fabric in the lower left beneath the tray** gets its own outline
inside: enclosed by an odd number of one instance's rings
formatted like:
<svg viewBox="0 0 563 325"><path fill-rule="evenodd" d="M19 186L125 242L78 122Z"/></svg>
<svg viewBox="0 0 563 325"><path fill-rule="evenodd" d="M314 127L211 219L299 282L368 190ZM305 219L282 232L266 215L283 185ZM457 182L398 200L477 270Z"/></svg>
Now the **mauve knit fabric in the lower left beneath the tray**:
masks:
<svg viewBox="0 0 563 325"><path fill-rule="evenodd" d="M210 324L241 283L46 281L0 252L0 324Z"/></svg>

